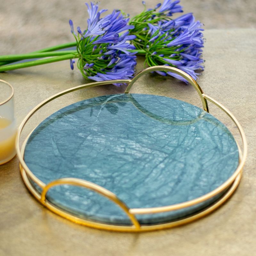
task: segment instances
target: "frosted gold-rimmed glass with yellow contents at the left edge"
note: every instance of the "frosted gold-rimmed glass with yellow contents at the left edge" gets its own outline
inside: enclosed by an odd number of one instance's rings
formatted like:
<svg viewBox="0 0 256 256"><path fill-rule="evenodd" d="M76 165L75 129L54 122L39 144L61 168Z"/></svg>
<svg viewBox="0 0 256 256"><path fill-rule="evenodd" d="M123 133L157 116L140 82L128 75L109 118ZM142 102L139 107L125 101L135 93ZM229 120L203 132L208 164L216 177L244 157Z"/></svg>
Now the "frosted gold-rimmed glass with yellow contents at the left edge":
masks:
<svg viewBox="0 0 256 256"><path fill-rule="evenodd" d="M0 79L0 164L16 155L16 121L14 117L14 90L11 84Z"/></svg>

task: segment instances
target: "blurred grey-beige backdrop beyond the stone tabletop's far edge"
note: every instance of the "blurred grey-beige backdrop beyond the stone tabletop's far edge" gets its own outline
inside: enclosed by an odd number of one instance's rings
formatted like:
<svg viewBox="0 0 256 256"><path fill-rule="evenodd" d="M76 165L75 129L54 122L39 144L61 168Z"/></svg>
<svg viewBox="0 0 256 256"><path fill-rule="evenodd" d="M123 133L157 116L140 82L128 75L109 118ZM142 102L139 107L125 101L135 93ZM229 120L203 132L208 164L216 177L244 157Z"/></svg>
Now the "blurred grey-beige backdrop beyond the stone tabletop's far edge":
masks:
<svg viewBox="0 0 256 256"><path fill-rule="evenodd" d="M25 53L73 41L68 20L74 21L75 28L86 28L88 15L84 2L0 0L0 54ZM148 0L147 7L158 2L161 1ZM184 13L193 12L205 29L256 27L254 0L182 0L181 5ZM133 16L143 10L143 5L140 0L102 0L100 8L119 8Z"/></svg>

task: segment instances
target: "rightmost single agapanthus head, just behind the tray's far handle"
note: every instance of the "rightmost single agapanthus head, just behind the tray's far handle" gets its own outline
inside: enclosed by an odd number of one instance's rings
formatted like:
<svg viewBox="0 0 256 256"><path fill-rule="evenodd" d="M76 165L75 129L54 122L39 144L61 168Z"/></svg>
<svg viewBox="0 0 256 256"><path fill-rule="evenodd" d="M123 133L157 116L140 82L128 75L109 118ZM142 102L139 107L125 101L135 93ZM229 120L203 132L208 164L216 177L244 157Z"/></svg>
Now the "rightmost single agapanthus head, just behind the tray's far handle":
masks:
<svg viewBox="0 0 256 256"><path fill-rule="evenodd" d="M167 3L170 4L170 1L165 2L165 4ZM192 13L184 14L174 20L158 21L157 24L149 23L148 33L152 37L148 40L148 51L151 52L152 47L152 53L146 58L152 58L153 60L148 61L149 66L152 63L155 65L171 65L180 68L196 80L198 75L196 70L204 69L202 65L204 60L201 59L202 47L204 47L201 26L202 24L199 21L195 21ZM157 38L159 40L156 40ZM170 54L168 54L167 49L170 49ZM156 55L156 52L158 55ZM167 73L184 82L186 81L173 72L161 71L157 73L163 76Z"/></svg>

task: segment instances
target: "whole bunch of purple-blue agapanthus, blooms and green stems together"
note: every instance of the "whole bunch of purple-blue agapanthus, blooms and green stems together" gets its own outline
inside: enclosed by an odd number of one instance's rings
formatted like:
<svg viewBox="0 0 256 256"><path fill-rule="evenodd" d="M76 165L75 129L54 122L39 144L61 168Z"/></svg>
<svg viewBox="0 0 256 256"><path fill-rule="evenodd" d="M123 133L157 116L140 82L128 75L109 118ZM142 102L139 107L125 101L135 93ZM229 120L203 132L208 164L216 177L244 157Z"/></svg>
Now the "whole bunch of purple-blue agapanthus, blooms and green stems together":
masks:
<svg viewBox="0 0 256 256"><path fill-rule="evenodd" d="M87 28L82 31L77 27L75 31L72 20L69 21L76 41L28 54L0 56L0 72L70 60L71 69L77 63L86 78L95 81L123 80L133 77L135 54L138 53L145 55L145 66L176 67L196 80L197 70L204 69L202 24L195 21L192 13L173 19L173 14L183 12L179 3L179 0L164 0L163 4L147 9L142 1L144 10L131 20L118 10L102 18L102 13L107 10L99 10L98 4L86 4L89 13ZM74 46L76 50L59 51ZM34 58L39 59L12 64ZM172 72L156 72L187 82Z"/></svg>

